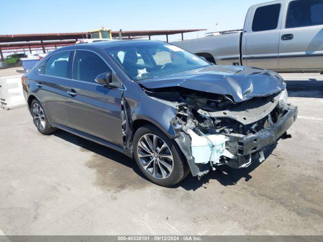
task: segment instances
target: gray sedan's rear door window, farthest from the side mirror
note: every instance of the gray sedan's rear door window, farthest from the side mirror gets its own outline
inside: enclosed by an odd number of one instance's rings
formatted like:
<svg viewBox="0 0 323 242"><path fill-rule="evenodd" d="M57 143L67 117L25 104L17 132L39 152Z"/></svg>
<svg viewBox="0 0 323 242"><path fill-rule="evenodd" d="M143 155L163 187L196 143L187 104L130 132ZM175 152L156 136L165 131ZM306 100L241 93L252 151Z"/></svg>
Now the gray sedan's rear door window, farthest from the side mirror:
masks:
<svg viewBox="0 0 323 242"><path fill-rule="evenodd" d="M49 57L44 73L41 74L54 76L54 77L68 77L68 65L71 51L64 51L61 53L54 54ZM38 68L37 68L38 71Z"/></svg>

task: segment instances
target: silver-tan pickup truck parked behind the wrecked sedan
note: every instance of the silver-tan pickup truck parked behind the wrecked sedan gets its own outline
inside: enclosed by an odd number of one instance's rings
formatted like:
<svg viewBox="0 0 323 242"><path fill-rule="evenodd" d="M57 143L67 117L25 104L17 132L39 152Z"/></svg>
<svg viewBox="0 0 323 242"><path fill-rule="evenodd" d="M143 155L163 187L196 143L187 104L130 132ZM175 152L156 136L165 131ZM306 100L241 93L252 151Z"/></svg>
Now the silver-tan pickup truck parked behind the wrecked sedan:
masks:
<svg viewBox="0 0 323 242"><path fill-rule="evenodd" d="M243 31L174 42L220 65L277 72L323 71L323 0L279 0L249 8Z"/></svg>

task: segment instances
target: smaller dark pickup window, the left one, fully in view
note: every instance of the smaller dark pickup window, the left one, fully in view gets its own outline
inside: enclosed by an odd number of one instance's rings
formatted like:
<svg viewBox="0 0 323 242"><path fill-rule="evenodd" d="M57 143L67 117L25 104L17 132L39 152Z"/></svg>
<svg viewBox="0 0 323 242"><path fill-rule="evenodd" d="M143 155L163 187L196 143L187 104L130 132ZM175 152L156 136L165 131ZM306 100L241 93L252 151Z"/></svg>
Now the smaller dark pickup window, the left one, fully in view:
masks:
<svg viewBox="0 0 323 242"><path fill-rule="evenodd" d="M280 11L280 4L257 8L253 17L252 31L258 32L277 29Z"/></svg>

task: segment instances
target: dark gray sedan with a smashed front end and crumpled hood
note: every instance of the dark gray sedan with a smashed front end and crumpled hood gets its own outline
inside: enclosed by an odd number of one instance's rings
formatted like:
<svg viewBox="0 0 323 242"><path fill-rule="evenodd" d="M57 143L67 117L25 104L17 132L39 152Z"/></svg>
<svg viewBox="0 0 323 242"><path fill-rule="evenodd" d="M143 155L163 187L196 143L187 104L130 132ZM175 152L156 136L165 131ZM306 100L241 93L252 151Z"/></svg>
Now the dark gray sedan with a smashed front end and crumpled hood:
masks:
<svg viewBox="0 0 323 242"><path fill-rule="evenodd" d="M120 151L166 187L263 162L297 117L277 73L214 66L158 41L60 48L22 83L40 133L62 129Z"/></svg>

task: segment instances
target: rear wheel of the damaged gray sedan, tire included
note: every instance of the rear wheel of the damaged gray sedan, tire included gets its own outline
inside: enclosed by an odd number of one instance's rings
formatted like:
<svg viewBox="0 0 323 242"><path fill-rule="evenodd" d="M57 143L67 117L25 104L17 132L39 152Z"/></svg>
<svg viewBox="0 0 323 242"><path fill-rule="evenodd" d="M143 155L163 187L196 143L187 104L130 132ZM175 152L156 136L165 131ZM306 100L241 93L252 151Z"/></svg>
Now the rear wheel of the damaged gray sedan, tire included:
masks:
<svg viewBox="0 0 323 242"><path fill-rule="evenodd" d="M55 132L57 129L50 126L47 115L40 102L34 99L30 105L33 122L37 130L43 135L49 135Z"/></svg>

